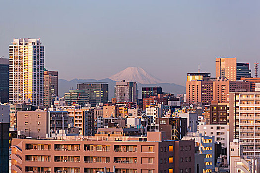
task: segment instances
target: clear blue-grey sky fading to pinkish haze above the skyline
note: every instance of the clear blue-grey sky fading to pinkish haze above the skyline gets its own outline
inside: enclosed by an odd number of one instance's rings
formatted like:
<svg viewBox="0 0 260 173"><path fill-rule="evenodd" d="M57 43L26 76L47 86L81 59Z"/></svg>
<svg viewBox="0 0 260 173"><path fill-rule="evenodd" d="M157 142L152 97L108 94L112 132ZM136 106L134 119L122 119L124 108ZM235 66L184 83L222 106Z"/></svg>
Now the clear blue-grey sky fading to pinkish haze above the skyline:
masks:
<svg viewBox="0 0 260 173"><path fill-rule="evenodd" d="M216 57L260 63L259 0L0 0L0 56L13 38L41 38L59 78L104 79L141 67L185 85L215 76Z"/></svg>

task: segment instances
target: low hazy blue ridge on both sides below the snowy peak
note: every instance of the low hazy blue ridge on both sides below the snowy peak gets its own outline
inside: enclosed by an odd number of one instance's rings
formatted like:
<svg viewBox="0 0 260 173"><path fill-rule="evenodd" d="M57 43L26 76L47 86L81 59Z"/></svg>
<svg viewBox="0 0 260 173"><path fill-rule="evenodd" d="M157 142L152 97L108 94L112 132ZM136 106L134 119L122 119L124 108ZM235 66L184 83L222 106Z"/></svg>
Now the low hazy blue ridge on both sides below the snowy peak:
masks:
<svg viewBox="0 0 260 173"><path fill-rule="evenodd" d="M69 89L77 89L77 83L80 82L104 82L108 83L108 97L109 100L114 97L114 87L116 81L113 81L109 78L103 80L95 80L95 79L73 79L71 81L67 81L64 79L59 79L59 96L63 96L65 92L68 92ZM138 83L137 87L139 90L139 98L142 98L142 87L162 87L163 92L170 92L174 94L182 94L186 93L186 87L177 85L177 84L169 84L169 83L158 83L158 84L140 84Z"/></svg>

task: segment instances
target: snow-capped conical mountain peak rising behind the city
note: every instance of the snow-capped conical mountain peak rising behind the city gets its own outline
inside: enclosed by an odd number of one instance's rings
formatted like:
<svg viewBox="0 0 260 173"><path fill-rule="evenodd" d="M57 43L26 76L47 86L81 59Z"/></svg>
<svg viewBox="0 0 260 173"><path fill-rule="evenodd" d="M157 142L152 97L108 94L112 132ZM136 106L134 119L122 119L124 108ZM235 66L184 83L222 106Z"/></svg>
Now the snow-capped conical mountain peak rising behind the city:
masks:
<svg viewBox="0 0 260 173"><path fill-rule="evenodd" d="M146 72L140 67L127 67L126 69L109 77L113 81L134 81L139 84L159 84L163 83L160 79Z"/></svg>

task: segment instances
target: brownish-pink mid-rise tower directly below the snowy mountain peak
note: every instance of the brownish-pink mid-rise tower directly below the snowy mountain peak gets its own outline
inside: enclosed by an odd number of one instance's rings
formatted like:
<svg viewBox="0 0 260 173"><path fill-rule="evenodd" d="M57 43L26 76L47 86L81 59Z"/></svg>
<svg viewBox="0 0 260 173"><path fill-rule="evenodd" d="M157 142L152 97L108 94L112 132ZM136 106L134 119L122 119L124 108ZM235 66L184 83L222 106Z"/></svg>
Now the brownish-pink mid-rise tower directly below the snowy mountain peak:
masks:
<svg viewBox="0 0 260 173"><path fill-rule="evenodd" d="M117 103L137 103L138 101L138 90L136 82L116 82L114 91Z"/></svg>

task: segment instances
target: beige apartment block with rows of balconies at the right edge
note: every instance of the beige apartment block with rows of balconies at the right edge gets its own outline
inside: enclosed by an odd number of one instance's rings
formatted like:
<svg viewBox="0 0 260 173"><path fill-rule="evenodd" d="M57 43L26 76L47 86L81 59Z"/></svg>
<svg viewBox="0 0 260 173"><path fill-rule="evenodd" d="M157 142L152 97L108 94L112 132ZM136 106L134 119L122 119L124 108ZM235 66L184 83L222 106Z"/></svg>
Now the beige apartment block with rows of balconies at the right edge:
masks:
<svg viewBox="0 0 260 173"><path fill-rule="evenodd" d="M229 101L230 140L243 142L243 156L260 158L260 92L232 92Z"/></svg>

